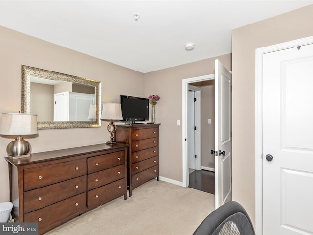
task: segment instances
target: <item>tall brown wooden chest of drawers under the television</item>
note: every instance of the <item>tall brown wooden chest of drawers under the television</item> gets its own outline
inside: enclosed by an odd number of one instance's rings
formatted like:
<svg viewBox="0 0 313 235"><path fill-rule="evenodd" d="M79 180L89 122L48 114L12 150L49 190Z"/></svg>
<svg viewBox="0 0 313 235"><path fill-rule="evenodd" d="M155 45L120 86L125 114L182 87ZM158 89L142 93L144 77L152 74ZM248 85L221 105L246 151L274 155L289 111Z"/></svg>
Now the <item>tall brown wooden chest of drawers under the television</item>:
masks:
<svg viewBox="0 0 313 235"><path fill-rule="evenodd" d="M132 189L157 178L159 180L159 125L135 124L118 125L116 141L129 144L127 187L129 196Z"/></svg>

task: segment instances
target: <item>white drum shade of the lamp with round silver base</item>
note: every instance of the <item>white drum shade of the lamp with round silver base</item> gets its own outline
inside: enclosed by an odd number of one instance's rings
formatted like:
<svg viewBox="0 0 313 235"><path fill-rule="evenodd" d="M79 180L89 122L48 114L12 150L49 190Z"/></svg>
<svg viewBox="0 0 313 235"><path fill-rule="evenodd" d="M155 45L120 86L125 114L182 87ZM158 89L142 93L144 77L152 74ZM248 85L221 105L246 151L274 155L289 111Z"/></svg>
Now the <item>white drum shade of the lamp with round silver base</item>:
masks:
<svg viewBox="0 0 313 235"><path fill-rule="evenodd" d="M38 133L37 114L2 113L2 135L34 135Z"/></svg>

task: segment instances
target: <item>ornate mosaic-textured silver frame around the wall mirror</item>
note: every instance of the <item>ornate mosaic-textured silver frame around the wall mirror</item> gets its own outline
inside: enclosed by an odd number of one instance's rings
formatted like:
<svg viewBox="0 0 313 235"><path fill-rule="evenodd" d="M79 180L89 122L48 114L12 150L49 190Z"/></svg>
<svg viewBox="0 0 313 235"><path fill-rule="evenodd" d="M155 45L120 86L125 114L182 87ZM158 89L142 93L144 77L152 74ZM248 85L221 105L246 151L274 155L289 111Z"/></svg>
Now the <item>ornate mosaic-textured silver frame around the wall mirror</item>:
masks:
<svg viewBox="0 0 313 235"><path fill-rule="evenodd" d="M50 80L59 80L71 82L83 86L95 88L95 117L94 121L38 121L38 129L65 129L65 128L86 128L101 127L101 82L87 78L76 77L64 73L42 70L34 67L22 65L22 96L21 111L22 113L31 112L31 77L40 77Z"/></svg>

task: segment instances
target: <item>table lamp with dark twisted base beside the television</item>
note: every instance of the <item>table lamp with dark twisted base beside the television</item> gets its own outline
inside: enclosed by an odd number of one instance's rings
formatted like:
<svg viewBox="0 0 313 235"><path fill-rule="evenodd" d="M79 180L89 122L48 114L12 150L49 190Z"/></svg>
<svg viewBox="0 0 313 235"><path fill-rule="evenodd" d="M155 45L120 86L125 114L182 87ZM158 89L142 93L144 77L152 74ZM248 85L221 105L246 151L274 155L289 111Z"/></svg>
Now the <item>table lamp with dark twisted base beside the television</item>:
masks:
<svg viewBox="0 0 313 235"><path fill-rule="evenodd" d="M117 126L114 124L113 120L122 120L122 106L119 103L103 103L102 104L102 120L111 120L110 124L108 125L107 129L110 133L110 141L107 142L108 145L116 144L117 142L114 141L114 134L117 129Z"/></svg>

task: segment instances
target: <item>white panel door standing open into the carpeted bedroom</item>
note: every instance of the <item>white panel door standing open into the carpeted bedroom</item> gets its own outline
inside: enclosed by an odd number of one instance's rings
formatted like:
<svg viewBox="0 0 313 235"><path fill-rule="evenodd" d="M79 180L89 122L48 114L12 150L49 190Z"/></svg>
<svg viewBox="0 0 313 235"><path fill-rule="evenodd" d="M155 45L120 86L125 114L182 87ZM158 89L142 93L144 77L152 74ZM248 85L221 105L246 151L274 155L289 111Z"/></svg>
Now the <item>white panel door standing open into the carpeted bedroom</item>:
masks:
<svg viewBox="0 0 313 235"><path fill-rule="evenodd" d="M231 73L215 60L215 208L231 192Z"/></svg>

